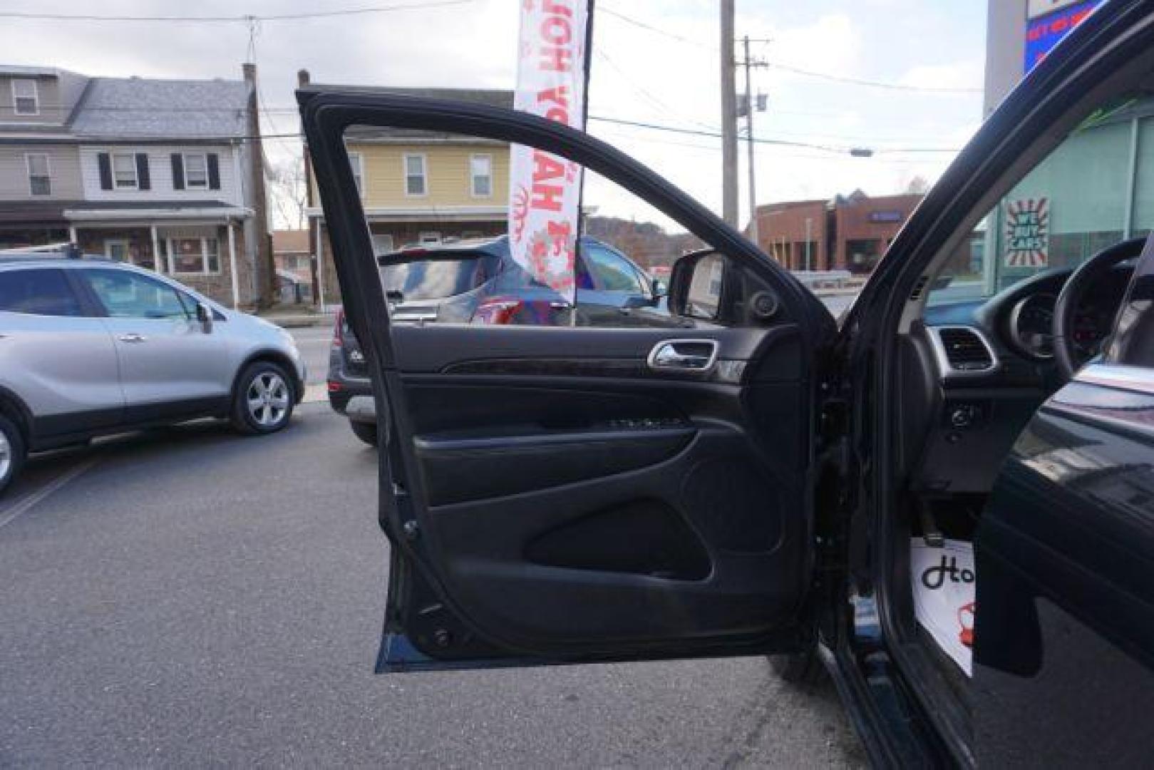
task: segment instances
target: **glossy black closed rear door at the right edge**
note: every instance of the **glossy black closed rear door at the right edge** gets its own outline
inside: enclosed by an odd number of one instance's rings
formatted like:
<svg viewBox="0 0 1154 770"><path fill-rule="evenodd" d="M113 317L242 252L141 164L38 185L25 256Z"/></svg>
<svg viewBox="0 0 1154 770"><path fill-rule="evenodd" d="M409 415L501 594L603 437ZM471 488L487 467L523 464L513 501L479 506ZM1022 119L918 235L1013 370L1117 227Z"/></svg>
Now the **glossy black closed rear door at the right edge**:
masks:
<svg viewBox="0 0 1154 770"><path fill-rule="evenodd" d="M1118 261L1111 252L1132 256L1136 244L1107 249L1103 267L1070 281L1089 285ZM1149 763L1152 523L1154 236L1103 354L1034 414L982 514L973 704L982 764Z"/></svg>

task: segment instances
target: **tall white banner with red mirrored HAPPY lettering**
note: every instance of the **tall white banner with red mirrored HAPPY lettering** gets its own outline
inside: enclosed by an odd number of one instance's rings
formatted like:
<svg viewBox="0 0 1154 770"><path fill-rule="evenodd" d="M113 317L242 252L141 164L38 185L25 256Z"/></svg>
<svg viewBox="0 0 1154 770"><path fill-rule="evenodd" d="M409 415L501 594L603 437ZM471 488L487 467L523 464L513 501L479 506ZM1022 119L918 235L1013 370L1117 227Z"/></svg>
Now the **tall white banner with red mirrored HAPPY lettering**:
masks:
<svg viewBox="0 0 1154 770"><path fill-rule="evenodd" d="M589 0L522 0L515 109L584 130L587 30ZM582 169L522 144L510 151L512 259L571 305Z"/></svg>

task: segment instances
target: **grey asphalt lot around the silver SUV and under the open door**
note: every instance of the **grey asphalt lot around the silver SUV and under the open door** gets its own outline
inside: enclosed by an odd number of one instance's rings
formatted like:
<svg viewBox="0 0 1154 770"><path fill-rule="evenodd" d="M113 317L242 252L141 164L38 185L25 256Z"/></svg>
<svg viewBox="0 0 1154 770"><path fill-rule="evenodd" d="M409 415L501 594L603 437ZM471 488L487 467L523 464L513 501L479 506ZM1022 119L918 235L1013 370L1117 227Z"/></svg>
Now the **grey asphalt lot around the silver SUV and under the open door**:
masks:
<svg viewBox="0 0 1154 770"><path fill-rule="evenodd" d="M760 658L374 675L375 458L321 403L33 458L0 499L0 767L864 763L832 687Z"/></svg>

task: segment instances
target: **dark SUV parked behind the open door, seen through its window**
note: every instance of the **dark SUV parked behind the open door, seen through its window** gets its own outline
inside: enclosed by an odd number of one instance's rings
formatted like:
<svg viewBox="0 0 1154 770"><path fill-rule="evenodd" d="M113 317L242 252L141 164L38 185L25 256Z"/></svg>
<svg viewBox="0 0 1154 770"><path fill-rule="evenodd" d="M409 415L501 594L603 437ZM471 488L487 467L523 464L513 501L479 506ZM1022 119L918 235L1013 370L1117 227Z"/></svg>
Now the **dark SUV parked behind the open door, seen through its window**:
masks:
<svg viewBox="0 0 1154 770"><path fill-rule="evenodd" d="M512 261L508 236L414 246L377 262L394 323L683 326L669 316L658 281L594 238L580 240L576 308ZM342 414L350 399L373 394L364 352L343 312L334 328L328 389L329 403ZM353 433L375 446L372 403L349 417Z"/></svg>

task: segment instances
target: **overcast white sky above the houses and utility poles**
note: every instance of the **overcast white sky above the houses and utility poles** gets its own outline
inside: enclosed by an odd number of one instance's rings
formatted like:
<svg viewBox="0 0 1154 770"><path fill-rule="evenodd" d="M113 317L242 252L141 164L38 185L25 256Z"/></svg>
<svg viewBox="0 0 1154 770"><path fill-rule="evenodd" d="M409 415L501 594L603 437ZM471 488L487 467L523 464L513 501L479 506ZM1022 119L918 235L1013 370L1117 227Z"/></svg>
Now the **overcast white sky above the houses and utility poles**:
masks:
<svg viewBox="0 0 1154 770"><path fill-rule="evenodd" d="M6 0L3 9L233 16L388 5L414 7L260 24L256 62L268 107L267 133L298 129L292 90L301 68L322 83L512 88L517 0L424 8L433 0ZM755 55L773 63L915 88L962 89L930 94L839 84L782 69L757 72L755 90L769 96L769 111L756 115L758 136L878 151L861 159L844 151L759 145L759 203L829 197L859 187L870 195L897 193L919 175L932 181L950 154L884 150L960 148L981 120L986 0L737 0L736 5L737 35L772 38L756 46ZM717 130L717 1L598 0L598 9L590 114ZM239 79L248 37L241 23L0 18L0 55L6 63L58 66L91 75ZM720 208L718 140L597 121L590 130ZM293 139L270 141L267 147L273 162L300 154ZM744 218L744 170L742 184Z"/></svg>

